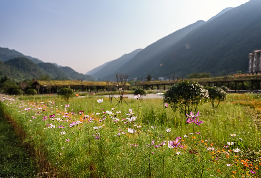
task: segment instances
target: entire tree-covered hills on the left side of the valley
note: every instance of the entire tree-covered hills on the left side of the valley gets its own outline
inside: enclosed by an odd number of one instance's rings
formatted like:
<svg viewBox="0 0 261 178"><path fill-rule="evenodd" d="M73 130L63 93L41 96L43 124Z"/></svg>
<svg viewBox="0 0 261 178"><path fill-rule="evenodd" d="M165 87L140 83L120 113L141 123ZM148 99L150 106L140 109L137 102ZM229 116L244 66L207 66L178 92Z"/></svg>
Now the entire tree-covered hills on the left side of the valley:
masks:
<svg viewBox="0 0 261 178"><path fill-rule="evenodd" d="M80 74L69 67L25 56L15 50L0 47L0 77L7 76L16 81L48 78L52 80L95 80L89 75Z"/></svg>

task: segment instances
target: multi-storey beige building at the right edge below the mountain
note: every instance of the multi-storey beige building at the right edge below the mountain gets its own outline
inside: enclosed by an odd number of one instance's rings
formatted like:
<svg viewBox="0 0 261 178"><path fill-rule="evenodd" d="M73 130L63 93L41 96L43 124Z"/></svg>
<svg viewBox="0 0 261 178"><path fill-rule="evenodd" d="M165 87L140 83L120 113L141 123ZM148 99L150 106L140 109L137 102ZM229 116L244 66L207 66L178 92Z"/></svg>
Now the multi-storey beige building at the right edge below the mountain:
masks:
<svg viewBox="0 0 261 178"><path fill-rule="evenodd" d="M249 73L260 73L261 72L261 50L254 50L248 54L249 58Z"/></svg>

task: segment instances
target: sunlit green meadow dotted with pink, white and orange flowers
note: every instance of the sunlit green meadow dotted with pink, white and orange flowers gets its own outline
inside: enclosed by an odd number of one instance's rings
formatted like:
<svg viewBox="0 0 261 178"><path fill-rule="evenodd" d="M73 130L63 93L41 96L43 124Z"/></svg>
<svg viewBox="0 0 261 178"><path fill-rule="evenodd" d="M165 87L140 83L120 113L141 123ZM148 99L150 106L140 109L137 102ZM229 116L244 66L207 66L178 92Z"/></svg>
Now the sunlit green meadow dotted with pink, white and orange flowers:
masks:
<svg viewBox="0 0 261 178"><path fill-rule="evenodd" d="M229 94L213 109L174 112L135 96L64 101L0 95L6 118L31 145L39 176L56 178L260 178L261 98Z"/></svg>

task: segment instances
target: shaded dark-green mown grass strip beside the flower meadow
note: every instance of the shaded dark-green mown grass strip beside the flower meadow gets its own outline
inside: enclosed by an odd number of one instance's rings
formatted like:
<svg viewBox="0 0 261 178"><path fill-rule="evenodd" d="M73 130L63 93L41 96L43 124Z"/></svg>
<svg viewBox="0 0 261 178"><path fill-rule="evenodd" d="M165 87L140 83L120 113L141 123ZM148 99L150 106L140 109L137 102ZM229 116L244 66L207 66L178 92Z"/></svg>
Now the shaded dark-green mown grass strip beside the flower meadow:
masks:
<svg viewBox="0 0 261 178"><path fill-rule="evenodd" d="M22 139L0 109L0 178L36 178L37 168Z"/></svg>

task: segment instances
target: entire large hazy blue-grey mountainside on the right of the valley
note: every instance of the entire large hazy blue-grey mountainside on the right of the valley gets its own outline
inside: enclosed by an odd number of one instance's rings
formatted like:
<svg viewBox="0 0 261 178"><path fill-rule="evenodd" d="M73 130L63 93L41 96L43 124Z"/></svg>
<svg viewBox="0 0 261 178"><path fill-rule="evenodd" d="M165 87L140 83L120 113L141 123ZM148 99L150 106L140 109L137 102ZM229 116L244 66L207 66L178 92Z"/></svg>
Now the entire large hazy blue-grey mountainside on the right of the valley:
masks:
<svg viewBox="0 0 261 178"><path fill-rule="evenodd" d="M207 22L198 21L158 40L134 57L133 53L126 54L122 65L110 61L88 74L98 80L116 80L116 73L143 80L148 74L157 79L173 74L186 77L194 72L212 76L247 73L247 55L261 48L260 9L261 0L224 9Z"/></svg>

